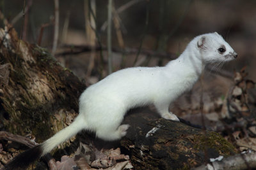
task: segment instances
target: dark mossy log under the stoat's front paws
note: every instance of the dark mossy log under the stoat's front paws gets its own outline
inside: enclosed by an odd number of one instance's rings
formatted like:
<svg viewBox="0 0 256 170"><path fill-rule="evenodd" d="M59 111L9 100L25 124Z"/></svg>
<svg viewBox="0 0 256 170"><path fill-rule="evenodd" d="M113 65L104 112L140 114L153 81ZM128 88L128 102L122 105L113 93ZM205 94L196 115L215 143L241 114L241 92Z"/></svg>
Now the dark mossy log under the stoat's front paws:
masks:
<svg viewBox="0 0 256 170"><path fill-rule="evenodd" d="M209 158L235 153L234 146L216 132L157 118L149 111L135 112L140 113L125 118L131 127L120 143L137 169L190 169Z"/></svg>

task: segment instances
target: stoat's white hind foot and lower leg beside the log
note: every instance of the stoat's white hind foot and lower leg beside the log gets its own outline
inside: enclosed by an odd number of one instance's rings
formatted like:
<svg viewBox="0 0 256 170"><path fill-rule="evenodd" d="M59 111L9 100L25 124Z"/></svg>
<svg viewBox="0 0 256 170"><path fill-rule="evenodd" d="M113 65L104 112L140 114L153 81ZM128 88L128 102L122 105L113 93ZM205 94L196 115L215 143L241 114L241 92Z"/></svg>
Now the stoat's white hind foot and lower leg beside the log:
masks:
<svg viewBox="0 0 256 170"><path fill-rule="evenodd" d="M130 125L125 124L120 125L114 130L108 128L97 129L96 136L107 141L115 141L124 137L127 134L127 129L129 127Z"/></svg>

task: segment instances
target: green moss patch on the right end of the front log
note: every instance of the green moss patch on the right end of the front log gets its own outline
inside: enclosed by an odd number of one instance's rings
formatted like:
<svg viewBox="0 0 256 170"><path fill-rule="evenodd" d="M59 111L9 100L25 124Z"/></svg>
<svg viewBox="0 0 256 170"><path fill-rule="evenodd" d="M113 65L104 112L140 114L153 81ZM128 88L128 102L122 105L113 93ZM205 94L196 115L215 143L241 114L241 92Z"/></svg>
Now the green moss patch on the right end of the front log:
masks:
<svg viewBox="0 0 256 170"><path fill-rule="evenodd" d="M213 148L220 155L228 156L236 152L236 148L216 132L206 132L195 137L195 148L205 150L205 148Z"/></svg>

